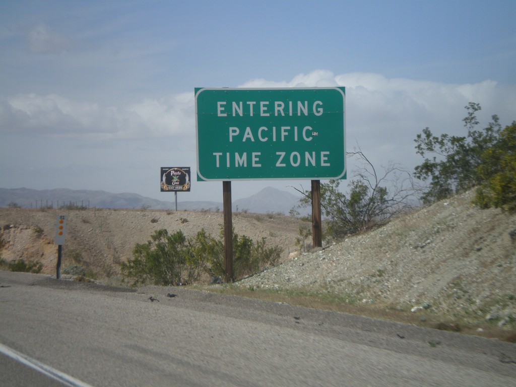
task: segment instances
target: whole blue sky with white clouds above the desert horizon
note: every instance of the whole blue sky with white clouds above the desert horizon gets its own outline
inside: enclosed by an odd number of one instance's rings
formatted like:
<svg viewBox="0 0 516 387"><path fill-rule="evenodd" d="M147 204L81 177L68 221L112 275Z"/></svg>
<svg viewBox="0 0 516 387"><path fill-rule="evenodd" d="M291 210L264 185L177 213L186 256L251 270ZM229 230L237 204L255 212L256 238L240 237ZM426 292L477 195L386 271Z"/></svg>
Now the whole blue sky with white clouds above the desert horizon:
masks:
<svg viewBox="0 0 516 387"><path fill-rule="evenodd" d="M379 171L423 159L414 139L516 120L516 2L26 1L0 3L0 187L160 192L222 201L198 182L196 87L346 88L346 151ZM483 126L482 126L483 125ZM349 183L357 165L347 165ZM232 182L232 198L307 180Z"/></svg>

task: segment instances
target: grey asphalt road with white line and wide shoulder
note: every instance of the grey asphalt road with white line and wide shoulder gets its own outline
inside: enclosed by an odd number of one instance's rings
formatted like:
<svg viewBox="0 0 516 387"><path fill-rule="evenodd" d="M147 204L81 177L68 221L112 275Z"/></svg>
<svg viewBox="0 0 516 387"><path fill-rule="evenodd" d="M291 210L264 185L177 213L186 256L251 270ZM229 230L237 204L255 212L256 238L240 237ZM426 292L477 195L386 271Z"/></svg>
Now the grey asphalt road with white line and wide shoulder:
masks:
<svg viewBox="0 0 516 387"><path fill-rule="evenodd" d="M177 287L0 286L1 386L516 383L516 346L496 340Z"/></svg>

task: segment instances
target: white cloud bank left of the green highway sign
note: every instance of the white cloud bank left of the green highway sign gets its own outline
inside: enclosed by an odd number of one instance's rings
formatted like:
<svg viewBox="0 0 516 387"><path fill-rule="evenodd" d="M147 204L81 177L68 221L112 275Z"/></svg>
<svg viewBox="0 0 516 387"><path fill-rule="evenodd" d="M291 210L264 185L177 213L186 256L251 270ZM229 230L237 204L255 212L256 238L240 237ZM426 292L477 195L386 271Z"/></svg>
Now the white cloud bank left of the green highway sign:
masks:
<svg viewBox="0 0 516 387"><path fill-rule="evenodd" d="M31 93L0 101L0 131L91 140L181 136L195 128L194 111L192 93L125 107Z"/></svg>

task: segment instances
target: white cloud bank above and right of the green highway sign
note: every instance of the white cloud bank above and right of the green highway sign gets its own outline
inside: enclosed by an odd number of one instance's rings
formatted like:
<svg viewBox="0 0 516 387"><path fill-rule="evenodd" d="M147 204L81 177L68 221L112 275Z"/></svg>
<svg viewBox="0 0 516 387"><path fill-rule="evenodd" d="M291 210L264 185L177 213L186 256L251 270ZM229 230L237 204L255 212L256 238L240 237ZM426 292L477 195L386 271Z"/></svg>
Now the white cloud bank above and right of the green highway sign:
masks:
<svg viewBox="0 0 516 387"><path fill-rule="evenodd" d="M253 79L241 87L346 87L347 151L360 146L377 167L393 162L412 170L423 161L415 153L414 139L423 128L441 133L465 135L462 118L469 102L478 102L477 117L485 127L491 115L502 124L514 117L516 87L499 86L492 80L477 84L445 84L380 74L347 73L334 75L316 70L299 74L290 82ZM484 125L484 126L482 126ZM348 179L352 166L348 166Z"/></svg>

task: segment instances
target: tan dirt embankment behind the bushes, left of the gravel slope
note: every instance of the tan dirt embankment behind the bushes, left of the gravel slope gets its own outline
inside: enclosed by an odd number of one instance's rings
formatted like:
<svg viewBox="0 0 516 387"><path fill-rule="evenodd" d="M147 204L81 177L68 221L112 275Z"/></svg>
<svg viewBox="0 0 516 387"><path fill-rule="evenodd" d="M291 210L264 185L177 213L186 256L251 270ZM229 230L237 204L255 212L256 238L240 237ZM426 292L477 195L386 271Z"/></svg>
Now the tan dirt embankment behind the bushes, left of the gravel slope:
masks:
<svg viewBox="0 0 516 387"><path fill-rule="evenodd" d="M182 230L190 237L204 228L218 237L223 224L221 212L0 208L0 237L4 242L0 257L6 261L41 262L43 273L55 274L57 215L67 216L61 271L76 264L110 283L119 280L119 263L132 257L135 244L145 243L154 231L163 228L169 233ZM266 246L280 246L283 248L282 260L287 259L289 251L299 249L296 237L303 223L307 224L284 215L233 213L237 234L254 240L263 237Z"/></svg>

